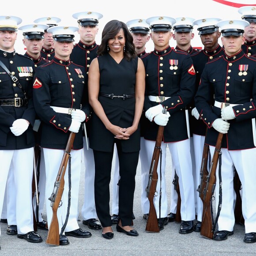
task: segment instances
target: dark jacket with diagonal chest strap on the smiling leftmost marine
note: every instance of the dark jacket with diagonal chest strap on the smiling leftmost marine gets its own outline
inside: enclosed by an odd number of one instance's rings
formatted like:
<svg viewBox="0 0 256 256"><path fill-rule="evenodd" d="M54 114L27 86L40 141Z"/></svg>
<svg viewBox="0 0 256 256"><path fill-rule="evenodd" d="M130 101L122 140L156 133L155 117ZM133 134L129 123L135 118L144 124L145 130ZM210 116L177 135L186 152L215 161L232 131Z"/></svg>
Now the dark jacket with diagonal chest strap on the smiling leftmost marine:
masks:
<svg viewBox="0 0 256 256"><path fill-rule="evenodd" d="M9 69L25 90L28 105L0 106L0 150L16 150L34 147L33 125L35 110L32 98L32 80L34 63L29 58L18 53L7 53L0 50L0 60ZM24 98L21 88L11 80L8 73L0 67L0 99ZM17 119L26 119L30 122L28 129L20 136L15 136L10 127Z"/></svg>

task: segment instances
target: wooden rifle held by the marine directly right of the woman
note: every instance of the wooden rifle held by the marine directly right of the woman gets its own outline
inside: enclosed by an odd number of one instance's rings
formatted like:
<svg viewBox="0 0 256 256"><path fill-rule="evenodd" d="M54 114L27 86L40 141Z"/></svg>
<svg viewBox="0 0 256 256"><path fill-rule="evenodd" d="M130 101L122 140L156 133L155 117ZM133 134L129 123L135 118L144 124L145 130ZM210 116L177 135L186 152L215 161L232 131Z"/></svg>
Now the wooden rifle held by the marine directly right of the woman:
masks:
<svg viewBox="0 0 256 256"><path fill-rule="evenodd" d="M163 109L162 113L166 114L166 111L167 111L167 107ZM156 191L156 186L158 182L157 167L158 167L160 152L162 154L161 143L162 143L163 132L164 132L164 126L159 125L156 142L154 146L154 152L151 160L151 166L149 170L148 184L147 184L147 188L145 189L147 192L147 198L149 200L149 213L147 218L146 231L152 232L152 233L160 232L153 200L154 200L155 193L158 193Z"/></svg>

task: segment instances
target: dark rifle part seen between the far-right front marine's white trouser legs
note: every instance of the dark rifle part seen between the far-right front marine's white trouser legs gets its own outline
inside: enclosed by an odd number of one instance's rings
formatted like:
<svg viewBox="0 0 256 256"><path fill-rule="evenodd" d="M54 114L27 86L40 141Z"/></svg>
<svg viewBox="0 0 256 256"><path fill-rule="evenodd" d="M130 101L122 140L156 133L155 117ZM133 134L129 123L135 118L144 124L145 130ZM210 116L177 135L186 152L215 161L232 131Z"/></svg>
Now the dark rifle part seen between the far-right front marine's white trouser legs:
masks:
<svg viewBox="0 0 256 256"><path fill-rule="evenodd" d="M236 204L235 204L235 208L234 208L235 223L244 225L245 219L244 219L243 213L242 213L242 198L241 198L241 194L240 194L241 181L239 179L236 169L235 169L233 184L234 184L234 191L236 193Z"/></svg>

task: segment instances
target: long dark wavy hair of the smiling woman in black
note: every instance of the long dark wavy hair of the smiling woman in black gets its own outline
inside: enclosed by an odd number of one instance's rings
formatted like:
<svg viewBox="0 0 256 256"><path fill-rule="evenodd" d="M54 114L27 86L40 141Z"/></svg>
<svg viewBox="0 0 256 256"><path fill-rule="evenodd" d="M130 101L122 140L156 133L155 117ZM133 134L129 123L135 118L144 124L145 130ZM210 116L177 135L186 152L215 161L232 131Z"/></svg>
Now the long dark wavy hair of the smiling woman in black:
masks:
<svg viewBox="0 0 256 256"><path fill-rule="evenodd" d="M132 34L128 30L128 27L125 23L119 20L111 20L109 21L103 31L102 31L102 42L98 48L97 54L104 55L108 53L107 44L109 39L114 38L120 31L120 29L124 30L124 38L125 38L125 51L124 51L124 58L126 60L131 60L137 56L135 47L133 44Z"/></svg>

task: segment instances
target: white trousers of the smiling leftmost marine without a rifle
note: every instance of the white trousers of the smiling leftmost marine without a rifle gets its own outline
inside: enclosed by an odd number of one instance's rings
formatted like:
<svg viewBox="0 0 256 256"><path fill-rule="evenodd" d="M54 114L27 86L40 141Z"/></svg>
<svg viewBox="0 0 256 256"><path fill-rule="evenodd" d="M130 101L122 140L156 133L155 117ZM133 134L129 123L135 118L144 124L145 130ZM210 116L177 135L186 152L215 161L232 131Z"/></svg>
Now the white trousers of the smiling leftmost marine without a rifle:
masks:
<svg viewBox="0 0 256 256"><path fill-rule="evenodd" d="M0 215L4 203L4 192L7 184L9 169L14 175L16 219L19 234L33 231L32 208L32 177L33 177L33 150L34 148L20 150L1 150L0 163ZM8 200L8 197L7 197ZM9 224L10 225L10 224Z"/></svg>

